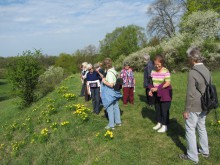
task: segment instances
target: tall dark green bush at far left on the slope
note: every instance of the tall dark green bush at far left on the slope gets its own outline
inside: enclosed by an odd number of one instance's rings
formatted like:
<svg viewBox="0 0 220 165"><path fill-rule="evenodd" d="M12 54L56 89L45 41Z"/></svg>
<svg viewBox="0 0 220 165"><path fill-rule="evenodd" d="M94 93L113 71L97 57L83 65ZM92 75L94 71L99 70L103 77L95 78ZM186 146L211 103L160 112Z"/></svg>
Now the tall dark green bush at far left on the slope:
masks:
<svg viewBox="0 0 220 165"><path fill-rule="evenodd" d="M8 77L22 99L22 106L30 105L35 98L35 89L41 72L41 65L37 59L39 51L25 51L23 55L13 58L8 65Z"/></svg>

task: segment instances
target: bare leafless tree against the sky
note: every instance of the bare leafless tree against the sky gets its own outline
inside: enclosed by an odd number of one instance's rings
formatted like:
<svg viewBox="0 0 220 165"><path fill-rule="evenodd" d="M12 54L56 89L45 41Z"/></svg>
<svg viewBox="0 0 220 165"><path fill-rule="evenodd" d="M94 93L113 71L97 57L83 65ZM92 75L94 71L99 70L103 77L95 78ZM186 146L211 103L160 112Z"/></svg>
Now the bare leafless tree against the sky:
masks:
<svg viewBox="0 0 220 165"><path fill-rule="evenodd" d="M175 0L157 0L152 3L147 11L151 17L147 25L149 35L158 38L174 36L182 12L182 5Z"/></svg>

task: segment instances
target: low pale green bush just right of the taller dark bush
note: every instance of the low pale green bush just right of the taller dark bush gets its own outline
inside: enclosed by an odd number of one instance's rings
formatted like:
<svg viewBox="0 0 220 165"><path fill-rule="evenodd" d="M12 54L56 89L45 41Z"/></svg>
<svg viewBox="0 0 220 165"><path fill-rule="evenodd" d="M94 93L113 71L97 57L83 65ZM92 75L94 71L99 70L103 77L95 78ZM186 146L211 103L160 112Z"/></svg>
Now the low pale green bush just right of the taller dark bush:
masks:
<svg viewBox="0 0 220 165"><path fill-rule="evenodd" d="M38 79L38 90L43 95L53 91L64 79L64 69L50 66Z"/></svg>

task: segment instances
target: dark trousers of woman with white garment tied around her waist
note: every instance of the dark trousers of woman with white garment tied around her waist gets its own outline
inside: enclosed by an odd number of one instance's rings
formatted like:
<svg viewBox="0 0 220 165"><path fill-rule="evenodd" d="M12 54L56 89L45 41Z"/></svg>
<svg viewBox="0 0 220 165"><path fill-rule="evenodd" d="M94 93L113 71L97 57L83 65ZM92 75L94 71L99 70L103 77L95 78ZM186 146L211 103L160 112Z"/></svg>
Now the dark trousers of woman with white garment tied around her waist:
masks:
<svg viewBox="0 0 220 165"><path fill-rule="evenodd" d="M92 105L93 105L93 111L96 114L99 114L100 110L100 88L90 88L91 91L91 97L92 97Z"/></svg>

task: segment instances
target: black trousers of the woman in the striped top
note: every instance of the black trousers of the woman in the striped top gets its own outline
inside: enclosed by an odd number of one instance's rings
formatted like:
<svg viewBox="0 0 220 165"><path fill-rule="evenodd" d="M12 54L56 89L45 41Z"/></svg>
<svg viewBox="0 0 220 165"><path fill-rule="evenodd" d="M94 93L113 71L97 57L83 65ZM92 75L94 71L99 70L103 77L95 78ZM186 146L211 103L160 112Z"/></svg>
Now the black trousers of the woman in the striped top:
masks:
<svg viewBox="0 0 220 165"><path fill-rule="evenodd" d="M155 110L156 110L156 118L157 122L162 125L168 125L170 120L170 101L161 102L157 97L155 101Z"/></svg>

